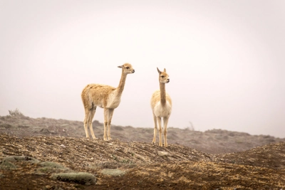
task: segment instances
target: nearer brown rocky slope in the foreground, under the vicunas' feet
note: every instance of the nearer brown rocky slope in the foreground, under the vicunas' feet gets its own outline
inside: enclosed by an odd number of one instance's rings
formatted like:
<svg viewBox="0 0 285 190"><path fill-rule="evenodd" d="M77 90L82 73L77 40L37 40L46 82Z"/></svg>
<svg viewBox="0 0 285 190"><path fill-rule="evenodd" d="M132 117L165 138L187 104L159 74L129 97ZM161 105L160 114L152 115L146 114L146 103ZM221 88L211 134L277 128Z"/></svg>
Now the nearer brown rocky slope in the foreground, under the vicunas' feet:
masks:
<svg viewBox="0 0 285 190"><path fill-rule="evenodd" d="M53 177L75 172L95 180ZM284 176L285 142L208 154L177 144L0 134L0 189L284 189Z"/></svg>

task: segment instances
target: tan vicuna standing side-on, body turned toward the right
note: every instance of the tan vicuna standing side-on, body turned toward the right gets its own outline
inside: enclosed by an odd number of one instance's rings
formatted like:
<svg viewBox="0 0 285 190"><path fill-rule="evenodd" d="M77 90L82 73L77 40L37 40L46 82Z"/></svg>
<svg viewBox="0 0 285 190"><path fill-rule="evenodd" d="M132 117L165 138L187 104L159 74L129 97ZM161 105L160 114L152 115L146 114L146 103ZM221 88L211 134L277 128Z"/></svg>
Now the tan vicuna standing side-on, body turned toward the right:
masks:
<svg viewBox="0 0 285 190"><path fill-rule="evenodd" d="M125 79L130 73L135 73L133 66L129 63L118 66L122 68L122 75L118 88L113 88L109 85L90 84L83 89L81 98L84 105L84 130L86 138L89 138L88 127L93 139L96 139L92 120L95 115L96 107L104 108L104 140L110 140L110 124L113 117L113 112L116 107L120 105L120 97L123 93L125 86Z"/></svg>

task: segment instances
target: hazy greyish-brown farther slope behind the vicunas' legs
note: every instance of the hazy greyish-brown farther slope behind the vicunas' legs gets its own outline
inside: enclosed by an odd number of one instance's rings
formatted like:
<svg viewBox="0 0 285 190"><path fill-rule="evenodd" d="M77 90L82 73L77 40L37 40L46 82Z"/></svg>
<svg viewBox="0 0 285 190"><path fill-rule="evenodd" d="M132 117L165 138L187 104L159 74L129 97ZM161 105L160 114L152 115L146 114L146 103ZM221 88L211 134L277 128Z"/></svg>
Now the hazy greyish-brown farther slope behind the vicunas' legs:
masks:
<svg viewBox="0 0 285 190"><path fill-rule="evenodd" d="M93 129L95 136L103 139L103 124L95 120ZM24 115L0 116L0 133L17 137L85 137L83 122L45 117L34 119ZM123 142L152 142L153 128L112 125L111 137ZM285 139L269 135L250 135L227 130L198 132L173 127L168 128L167 140L169 144L180 144L211 154L243 152L269 143L285 142Z"/></svg>

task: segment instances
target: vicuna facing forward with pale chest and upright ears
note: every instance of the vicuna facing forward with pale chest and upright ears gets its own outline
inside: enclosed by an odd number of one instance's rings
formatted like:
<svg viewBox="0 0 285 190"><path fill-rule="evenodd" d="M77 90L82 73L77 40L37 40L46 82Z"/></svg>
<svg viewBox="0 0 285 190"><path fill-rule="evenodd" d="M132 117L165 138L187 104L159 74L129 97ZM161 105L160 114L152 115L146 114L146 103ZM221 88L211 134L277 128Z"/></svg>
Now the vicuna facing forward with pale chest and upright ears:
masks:
<svg viewBox="0 0 285 190"><path fill-rule="evenodd" d="M163 134L165 137L165 147L167 147L167 123L172 110L172 100L170 95L165 92L165 83L170 82L170 78L164 69L163 72L157 68L159 73L160 90L156 90L152 94L150 105L152 107L153 120L155 121L155 129L153 134L152 143L155 143L157 134L157 123L160 132L160 147L162 147L162 128L161 120L163 120Z"/></svg>

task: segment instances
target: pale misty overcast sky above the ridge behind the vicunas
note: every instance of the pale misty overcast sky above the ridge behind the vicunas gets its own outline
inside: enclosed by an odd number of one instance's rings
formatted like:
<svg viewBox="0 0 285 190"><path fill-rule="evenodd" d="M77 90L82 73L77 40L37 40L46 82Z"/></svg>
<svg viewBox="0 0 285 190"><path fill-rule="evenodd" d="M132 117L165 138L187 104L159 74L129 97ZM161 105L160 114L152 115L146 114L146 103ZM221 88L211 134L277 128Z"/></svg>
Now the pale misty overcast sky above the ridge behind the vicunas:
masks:
<svg viewBox="0 0 285 190"><path fill-rule="evenodd" d="M131 63L114 125L153 127L158 67L169 127L285 137L284 51L284 0L0 0L0 115L83 121L83 88Z"/></svg>

